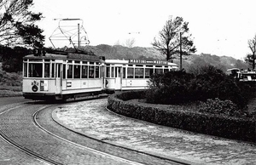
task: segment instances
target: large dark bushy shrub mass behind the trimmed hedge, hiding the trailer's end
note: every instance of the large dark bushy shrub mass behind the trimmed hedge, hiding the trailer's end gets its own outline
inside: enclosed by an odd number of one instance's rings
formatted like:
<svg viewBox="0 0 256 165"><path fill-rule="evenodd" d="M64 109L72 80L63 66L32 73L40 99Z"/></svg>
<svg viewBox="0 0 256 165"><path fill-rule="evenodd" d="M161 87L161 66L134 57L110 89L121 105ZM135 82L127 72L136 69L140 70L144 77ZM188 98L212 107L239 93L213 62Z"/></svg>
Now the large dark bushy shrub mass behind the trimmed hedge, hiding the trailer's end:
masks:
<svg viewBox="0 0 256 165"><path fill-rule="evenodd" d="M251 86L237 82L214 66L204 66L198 74L171 71L155 74L148 81L148 103L183 104L207 99L230 100L243 109L252 95Z"/></svg>

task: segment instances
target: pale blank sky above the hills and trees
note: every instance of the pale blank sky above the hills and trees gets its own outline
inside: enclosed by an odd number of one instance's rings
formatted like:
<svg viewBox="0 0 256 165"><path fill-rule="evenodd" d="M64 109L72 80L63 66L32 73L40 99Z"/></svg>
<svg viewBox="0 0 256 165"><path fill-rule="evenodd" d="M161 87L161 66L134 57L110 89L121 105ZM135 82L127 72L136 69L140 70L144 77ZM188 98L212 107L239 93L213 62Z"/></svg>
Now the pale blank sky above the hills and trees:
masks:
<svg viewBox="0 0 256 165"><path fill-rule="evenodd" d="M60 19L84 20L90 45L125 44L152 47L166 20L183 17L189 22L196 54L232 56L242 60L250 53L247 41L256 35L255 0L34 0L32 11L44 19L45 46Z"/></svg>

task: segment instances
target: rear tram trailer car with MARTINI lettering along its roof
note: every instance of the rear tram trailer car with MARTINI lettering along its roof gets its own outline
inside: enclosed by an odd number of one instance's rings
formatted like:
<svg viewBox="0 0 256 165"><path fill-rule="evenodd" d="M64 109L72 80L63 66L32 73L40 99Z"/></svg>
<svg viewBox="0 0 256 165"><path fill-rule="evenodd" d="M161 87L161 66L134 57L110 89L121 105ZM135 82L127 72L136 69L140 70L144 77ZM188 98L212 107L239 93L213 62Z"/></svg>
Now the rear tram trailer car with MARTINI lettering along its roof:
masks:
<svg viewBox="0 0 256 165"><path fill-rule="evenodd" d="M166 60L105 60L105 90L135 90L148 88L154 73L177 71L177 64Z"/></svg>

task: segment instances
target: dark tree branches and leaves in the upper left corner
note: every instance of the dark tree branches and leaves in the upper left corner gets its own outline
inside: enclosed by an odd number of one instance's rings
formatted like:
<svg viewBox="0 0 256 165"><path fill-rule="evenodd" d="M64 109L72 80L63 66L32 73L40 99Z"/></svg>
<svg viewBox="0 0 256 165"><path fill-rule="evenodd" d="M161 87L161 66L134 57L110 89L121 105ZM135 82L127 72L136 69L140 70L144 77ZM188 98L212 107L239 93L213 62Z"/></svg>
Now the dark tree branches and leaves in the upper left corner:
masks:
<svg viewBox="0 0 256 165"><path fill-rule="evenodd" d="M43 30L34 25L42 19L42 14L29 11L32 5L32 0L0 1L0 44L43 47Z"/></svg>

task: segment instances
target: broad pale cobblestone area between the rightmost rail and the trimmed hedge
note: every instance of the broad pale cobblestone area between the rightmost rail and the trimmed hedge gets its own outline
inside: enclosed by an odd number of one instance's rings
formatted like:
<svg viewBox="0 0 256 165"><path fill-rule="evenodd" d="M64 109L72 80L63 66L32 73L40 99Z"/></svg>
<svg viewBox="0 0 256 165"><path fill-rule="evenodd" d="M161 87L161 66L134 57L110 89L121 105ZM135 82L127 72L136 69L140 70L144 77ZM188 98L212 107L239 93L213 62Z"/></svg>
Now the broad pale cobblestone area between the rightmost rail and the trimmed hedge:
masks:
<svg viewBox="0 0 256 165"><path fill-rule="evenodd" d="M201 164L256 164L256 145L120 117L106 111L106 105L106 99L61 105L53 117L80 134L157 156Z"/></svg>

